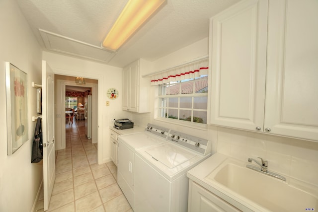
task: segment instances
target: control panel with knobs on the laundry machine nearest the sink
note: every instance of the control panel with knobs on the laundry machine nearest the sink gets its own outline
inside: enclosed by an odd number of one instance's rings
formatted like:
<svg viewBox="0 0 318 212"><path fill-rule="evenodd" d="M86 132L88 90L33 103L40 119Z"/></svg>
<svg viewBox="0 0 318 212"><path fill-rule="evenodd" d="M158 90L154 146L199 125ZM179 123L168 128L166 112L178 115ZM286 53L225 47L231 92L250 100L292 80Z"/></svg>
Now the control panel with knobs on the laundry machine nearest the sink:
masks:
<svg viewBox="0 0 318 212"><path fill-rule="evenodd" d="M177 131L170 130L167 137L168 141L182 145L201 154L210 153L209 141L195 136L187 135Z"/></svg>

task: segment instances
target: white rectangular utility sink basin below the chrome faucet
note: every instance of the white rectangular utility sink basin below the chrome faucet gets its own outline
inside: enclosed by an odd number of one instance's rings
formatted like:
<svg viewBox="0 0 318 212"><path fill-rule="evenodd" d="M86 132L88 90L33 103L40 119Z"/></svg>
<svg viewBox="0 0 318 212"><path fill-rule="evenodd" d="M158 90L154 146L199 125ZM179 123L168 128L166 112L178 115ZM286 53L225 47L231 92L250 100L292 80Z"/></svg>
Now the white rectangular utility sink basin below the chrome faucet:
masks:
<svg viewBox="0 0 318 212"><path fill-rule="evenodd" d="M318 198L288 185L283 180L245 167L246 163L226 160L205 179L271 211L292 212L318 210Z"/></svg>

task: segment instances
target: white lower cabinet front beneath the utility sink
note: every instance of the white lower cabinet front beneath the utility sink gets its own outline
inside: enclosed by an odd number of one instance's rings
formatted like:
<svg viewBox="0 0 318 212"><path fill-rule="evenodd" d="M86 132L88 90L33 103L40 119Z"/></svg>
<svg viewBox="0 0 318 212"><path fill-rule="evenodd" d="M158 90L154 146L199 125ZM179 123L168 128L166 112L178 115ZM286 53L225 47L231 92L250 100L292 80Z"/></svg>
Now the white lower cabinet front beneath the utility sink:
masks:
<svg viewBox="0 0 318 212"><path fill-rule="evenodd" d="M188 212L240 212L240 210L189 180Z"/></svg>

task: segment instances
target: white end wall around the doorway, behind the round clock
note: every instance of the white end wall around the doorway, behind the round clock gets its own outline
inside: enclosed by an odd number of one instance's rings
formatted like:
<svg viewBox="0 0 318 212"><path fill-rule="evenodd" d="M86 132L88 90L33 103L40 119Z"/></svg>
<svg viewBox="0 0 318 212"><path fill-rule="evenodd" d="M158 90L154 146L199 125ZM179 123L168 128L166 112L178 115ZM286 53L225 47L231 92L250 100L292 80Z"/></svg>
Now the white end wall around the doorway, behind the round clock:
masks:
<svg viewBox="0 0 318 212"><path fill-rule="evenodd" d="M113 125L112 120L123 117L132 118L131 113L122 111L122 68L50 52L43 52L43 60L47 61L56 74L98 80L98 154L102 155L101 158L98 156L100 158L98 163L110 161L109 127ZM117 88L119 91L119 98L116 100L110 100L106 95L108 88L111 87ZM106 106L106 101L110 101L109 106ZM55 110L57 110L57 105ZM56 120L59 122L58 118Z"/></svg>

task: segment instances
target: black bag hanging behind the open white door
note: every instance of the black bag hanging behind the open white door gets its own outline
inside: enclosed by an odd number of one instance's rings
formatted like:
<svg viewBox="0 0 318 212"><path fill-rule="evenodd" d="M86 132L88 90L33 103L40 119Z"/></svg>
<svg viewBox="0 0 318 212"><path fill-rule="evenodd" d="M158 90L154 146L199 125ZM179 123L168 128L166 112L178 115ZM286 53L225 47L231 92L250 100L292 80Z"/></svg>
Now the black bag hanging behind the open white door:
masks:
<svg viewBox="0 0 318 212"><path fill-rule="evenodd" d="M32 163L38 163L43 158L43 139L41 118L38 118L34 131L34 140L32 145Z"/></svg>

